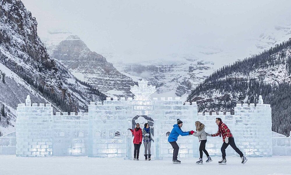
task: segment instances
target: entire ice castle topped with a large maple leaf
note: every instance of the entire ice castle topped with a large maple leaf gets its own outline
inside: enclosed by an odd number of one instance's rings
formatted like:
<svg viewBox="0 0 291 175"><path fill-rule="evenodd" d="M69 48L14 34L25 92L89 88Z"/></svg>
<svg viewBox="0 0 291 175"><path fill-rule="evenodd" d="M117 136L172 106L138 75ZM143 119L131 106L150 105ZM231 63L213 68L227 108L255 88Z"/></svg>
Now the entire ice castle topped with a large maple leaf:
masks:
<svg viewBox="0 0 291 175"><path fill-rule="evenodd" d="M197 112L196 102L191 105L189 102L183 104L179 97L151 100L150 95L156 91L155 86L148 86L148 82L144 80L138 84L139 86L131 86L131 92L135 95L133 99L107 98L103 104L90 102L88 113L78 115L74 112L64 112L63 115L56 112L53 115L51 104L31 104L27 96L25 104L18 104L17 107L16 155L131 159L133 137L127 129L134 128L136 123L140 123L142 127L144 123L149 123L155 140L151 148L152 157L172 157L173 149L168 143L168 135L178 118L183 121L184 131L195 130L195 121L199 120L206 125L206 132L213 134L218 130L215 118L221 118L233 133L237 146L250 157L272 156L274 142L282 142L276 140L278 137L272 141L271 107L263 104L261 97L256 106L237 104L235 115L230 115L229 112L226 115L223 112L219 112L219 115L216 112L203 115ZM291 138L287 139L289 147L286 149L291 150ZM210 155L221 156L222 143L220 137L208 137L206 148ZM195 136L180 136L178 144L179 157L198 156L199 142ZM141 155L143 149L141 146ZM233 149L226 149L226 153L237 155Z"/></svg>

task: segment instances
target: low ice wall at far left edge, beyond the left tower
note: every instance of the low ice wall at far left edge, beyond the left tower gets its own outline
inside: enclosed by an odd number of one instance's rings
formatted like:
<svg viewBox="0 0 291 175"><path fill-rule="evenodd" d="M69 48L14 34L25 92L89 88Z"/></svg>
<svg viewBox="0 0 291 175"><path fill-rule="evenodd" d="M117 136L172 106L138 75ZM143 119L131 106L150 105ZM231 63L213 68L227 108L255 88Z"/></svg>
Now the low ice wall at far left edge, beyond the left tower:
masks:
<svg viewBox="0 0 291 175"><path fill-rule="evenodd" d="M0 155L15 155L16 153L16 132L0 137Z"/></svg>

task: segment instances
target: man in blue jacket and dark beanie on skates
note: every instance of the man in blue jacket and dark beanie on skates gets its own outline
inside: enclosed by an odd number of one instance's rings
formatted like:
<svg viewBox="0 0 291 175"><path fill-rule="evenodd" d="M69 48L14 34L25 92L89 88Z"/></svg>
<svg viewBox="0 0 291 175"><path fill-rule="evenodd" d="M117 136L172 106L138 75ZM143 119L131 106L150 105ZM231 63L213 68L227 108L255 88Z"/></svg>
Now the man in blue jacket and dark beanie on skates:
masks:
<svg viewBox="0 0 291 175"><path fill-rule="evenodd" d="M180 119L177 119L177 124L173 125L173 129L171 131L171 134L168 137L168 142L171 143L174 151L173 151L173 163L174 164L180 164L181 161L177 160L178 153L179 153L179 146L177 144L178 136L189 136L194 133L194 131L187 131L183 132L181 127L183 126L183 122Z"/></svg>

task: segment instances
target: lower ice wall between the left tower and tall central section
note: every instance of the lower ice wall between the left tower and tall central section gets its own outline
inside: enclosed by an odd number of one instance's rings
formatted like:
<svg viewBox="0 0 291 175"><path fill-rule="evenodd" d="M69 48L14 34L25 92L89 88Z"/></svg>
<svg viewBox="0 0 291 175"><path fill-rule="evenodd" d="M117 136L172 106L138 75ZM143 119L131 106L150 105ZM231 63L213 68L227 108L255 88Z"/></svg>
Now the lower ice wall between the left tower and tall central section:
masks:
<svg viewBox="0 0 291 175"><path fill-rule="evenodd" d="M53 155L88 155L88 113L53 115Z"/></svg>

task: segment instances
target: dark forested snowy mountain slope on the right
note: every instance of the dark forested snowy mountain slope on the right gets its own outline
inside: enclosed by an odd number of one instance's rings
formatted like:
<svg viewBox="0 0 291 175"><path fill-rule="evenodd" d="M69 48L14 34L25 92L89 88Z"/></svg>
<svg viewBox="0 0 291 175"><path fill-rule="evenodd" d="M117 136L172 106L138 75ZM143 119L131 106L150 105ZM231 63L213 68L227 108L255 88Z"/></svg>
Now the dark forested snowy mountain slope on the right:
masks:
<svg viewBox="0 0 291 175"><path fill-rule="evenodd" d="M256 103L262 95L272 107L272 130L291 130L291 38L248 59L214 72L189 94L199 112L232 112L237 103Z"/></svg>

